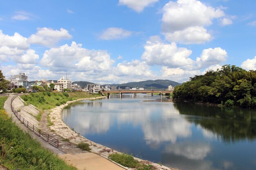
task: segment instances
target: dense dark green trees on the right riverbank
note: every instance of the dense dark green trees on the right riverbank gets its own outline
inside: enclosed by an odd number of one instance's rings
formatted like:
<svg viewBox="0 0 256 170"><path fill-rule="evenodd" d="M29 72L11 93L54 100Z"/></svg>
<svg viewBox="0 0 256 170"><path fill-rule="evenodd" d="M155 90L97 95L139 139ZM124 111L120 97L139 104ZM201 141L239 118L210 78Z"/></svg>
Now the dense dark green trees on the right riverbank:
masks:
<svg viewBox="0 0 256 170"><path fill-rule="evenodd" d="M224 65L176 86L173 99L256 108L256 71Z"/></svg>

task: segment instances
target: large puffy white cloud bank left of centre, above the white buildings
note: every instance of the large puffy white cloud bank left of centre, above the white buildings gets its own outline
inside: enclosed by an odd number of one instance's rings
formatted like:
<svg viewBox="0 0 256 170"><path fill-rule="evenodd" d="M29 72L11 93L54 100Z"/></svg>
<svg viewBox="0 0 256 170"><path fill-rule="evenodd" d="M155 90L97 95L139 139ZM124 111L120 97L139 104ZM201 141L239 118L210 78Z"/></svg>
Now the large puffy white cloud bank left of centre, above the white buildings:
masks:
<svg viewBox="0 0 256 170"><path fill-rule="evenodd" d="M40 61L42 66L49 67L51 71L90 71L91 74L100 74L112 69L114 60L110 59L107 51L88 50L81 44L72 42L58 48L46 50Z"/></svg>

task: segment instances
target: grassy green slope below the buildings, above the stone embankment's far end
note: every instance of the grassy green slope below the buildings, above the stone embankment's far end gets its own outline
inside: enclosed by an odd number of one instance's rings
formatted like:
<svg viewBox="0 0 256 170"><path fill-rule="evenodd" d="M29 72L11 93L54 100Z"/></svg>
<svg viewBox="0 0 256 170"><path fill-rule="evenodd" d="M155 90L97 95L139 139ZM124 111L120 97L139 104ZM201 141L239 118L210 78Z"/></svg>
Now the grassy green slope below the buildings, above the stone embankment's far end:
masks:
<svg viewBox="0 0 256 170"><path fill-rule="evenodd" d="M68 94L68 95L67 95ZM83 99L89 97L100 97L100 94L90 94L85 92L70 93L39 92L20 96L27 104L32 104L41 110L48 110L58 105L65 104L67 101Z"/></svg>

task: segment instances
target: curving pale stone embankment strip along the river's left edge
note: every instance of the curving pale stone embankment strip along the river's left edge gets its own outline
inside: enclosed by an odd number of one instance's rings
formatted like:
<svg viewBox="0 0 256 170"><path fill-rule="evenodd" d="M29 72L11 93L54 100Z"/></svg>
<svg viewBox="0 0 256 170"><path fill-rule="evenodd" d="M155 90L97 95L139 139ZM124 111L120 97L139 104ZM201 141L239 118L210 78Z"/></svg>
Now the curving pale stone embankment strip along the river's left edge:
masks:
<svg viewBox="0 0 256 170"><path fill-rule="evenodd" d="M104 97L94 97L94 98L87 98L88 100L92 99L101 99ZM79 144L80 142L85 142L90 145L91 152L97 154L97 155L103 155L104 157L108 157L112 153L119 153L118 151L108 148L106 146L103 146L101 144L97 144L93 141L90 141L89 139L86 139L85 137L77 134L74 130L71 130L62 120L61 112L65 106L72 102L77 102L85 99L78 99L75 101L69 101L66 104L63 104L61 106L57 106L56 108L52 108L50 110L50 120L53 122L52 126L49 126L50 130L56 135L63 137L64 139L68 139L73 144ZM134 157L135 158L135 157ZM153 165L157 170L176 170L173 168L169 168L163 165L159 165L157 163L153 163L150 161L145 161L139 158L135 158L136 160L146 163L148 165Z"/></svg>

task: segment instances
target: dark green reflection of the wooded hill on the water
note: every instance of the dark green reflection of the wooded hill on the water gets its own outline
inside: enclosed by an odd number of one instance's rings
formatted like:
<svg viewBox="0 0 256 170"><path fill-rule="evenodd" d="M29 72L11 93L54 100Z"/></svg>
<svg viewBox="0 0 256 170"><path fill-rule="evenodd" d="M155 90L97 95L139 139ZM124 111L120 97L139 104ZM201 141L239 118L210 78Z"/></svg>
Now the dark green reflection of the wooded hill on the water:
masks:
<svg viewBox="0 0 256 170"><path fill-rule="evenodd" d="M201 116L188 116L186 119L191 123L199 124L204 129L211 130L226 142L235 142L239 139L256 139L255 110L196 106L192 104L174 104L174 107L182 115Z"/></svg>

